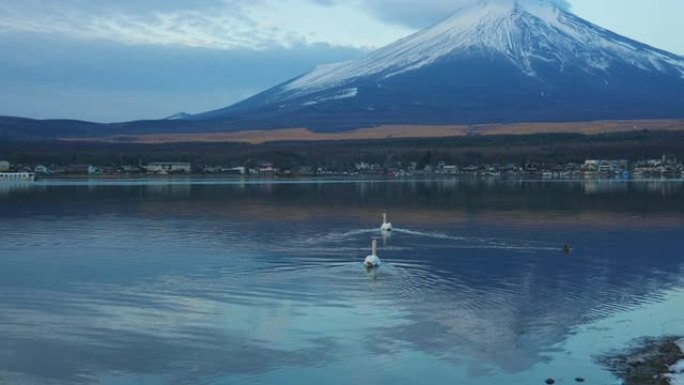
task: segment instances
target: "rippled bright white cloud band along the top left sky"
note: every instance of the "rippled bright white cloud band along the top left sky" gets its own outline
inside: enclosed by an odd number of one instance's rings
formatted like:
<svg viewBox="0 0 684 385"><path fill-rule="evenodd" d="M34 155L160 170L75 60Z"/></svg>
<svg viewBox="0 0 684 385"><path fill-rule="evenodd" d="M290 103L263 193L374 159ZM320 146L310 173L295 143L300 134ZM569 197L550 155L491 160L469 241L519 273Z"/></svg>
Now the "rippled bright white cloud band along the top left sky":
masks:
<svg viewBox="0 0 684 385"><path fill-rule="evenodd" d="M152 1L137 6L132 1L28 0L19 4L10 0L0 13L0 28L125 44L218 49L265 49L302 41L296 33L264 25L251 17L239 1L194 1L183 8L164 3Z"/></svg>

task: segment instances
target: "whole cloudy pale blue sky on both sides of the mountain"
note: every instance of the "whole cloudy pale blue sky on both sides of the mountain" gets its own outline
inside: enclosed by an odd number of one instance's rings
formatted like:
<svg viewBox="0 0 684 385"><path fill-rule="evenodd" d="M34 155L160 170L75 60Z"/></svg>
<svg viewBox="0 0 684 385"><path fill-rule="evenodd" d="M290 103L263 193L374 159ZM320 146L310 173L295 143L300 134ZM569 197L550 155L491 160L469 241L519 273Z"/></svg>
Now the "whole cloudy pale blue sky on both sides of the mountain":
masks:
<svg viewBox="0 0 684 385"><path fill-rule="evenodd" d="M225 107L477 0L2 0L0 115L98 122ZM682 0L545 0L684 55Z"/></svg>

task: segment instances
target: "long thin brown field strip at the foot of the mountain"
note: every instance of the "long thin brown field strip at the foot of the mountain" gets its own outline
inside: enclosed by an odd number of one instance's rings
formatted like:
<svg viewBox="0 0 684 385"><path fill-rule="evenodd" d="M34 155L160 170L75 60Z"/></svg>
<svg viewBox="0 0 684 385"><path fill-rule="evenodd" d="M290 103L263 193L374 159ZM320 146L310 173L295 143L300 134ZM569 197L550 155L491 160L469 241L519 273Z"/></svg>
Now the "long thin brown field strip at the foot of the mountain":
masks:
<svg viewBox="0 0 684 385"><path fill-rule="evenodd" d="M99 138L63 138L64 141L101 143L250 143L281 141L341 141L401 138L443 138L472 135L529 135L542 133L577 133L586 135L629 131L684 131L684 120L608 120L573 123L515 123L484 125L386 125L360 128L341 133L318 133L306 128L245 130L238 132L149 134L106 136Z"/></svg>

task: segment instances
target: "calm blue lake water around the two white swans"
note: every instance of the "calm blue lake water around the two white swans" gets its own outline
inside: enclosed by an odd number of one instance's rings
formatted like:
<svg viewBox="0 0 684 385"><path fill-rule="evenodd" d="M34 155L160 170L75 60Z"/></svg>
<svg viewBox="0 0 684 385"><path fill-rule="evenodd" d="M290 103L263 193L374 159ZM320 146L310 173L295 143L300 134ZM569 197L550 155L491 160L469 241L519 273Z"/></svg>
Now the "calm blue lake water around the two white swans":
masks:
<svg viewBox="0 0 684 385"><path fill-rule="evenodd" d="M0 384L615 384L682 309L681 181L0 186Z"/></svg>

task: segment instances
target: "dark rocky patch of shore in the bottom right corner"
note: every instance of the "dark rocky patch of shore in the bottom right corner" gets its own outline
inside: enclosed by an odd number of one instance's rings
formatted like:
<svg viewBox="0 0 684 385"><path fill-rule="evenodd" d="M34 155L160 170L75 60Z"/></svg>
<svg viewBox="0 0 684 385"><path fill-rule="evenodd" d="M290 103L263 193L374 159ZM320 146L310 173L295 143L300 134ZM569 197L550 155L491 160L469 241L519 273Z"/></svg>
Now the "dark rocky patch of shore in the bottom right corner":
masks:
<svg viewBox="0 0 684 385"><path fill-rule="evenodd" d="M681 377L676 371L684 360L684 339L643 338L635 347L599 357L599 362L620 377L624 385L674 385Z"/></svg>

